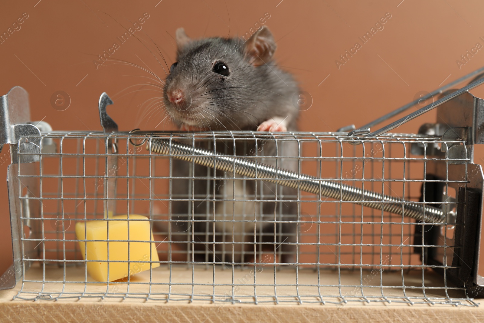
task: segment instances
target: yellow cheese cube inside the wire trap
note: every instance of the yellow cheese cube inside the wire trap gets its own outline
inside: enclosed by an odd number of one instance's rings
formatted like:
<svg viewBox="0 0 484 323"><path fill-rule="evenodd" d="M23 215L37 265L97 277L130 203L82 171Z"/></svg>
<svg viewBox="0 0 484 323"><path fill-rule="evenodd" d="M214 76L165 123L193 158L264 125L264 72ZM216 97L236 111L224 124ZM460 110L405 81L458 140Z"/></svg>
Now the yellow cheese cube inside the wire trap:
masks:
<svg viewBox="0 0 484 323"><path fill-rule="evenodd" d="M133 276L136 273L149 270L150 256L151 261L155 261L151 263L151 268L160 266L160 263L156 262L159 261L156 246L153 242L149 242L153 241L153 234L151 233L151 226L148 218L136 214L130 214L129 220L126 220L127 218L127 215L115 215L110 216L108 219L76 223L77 240L86 240L87 242L87 256L85 247L86 242L79 241L79 246L82 258L88 260L88 273L93 279L97 281L108 281L108 264L109 281ZM107 239L108 230L109 239ZM109 259L107 259L108 242Z"/></svg>

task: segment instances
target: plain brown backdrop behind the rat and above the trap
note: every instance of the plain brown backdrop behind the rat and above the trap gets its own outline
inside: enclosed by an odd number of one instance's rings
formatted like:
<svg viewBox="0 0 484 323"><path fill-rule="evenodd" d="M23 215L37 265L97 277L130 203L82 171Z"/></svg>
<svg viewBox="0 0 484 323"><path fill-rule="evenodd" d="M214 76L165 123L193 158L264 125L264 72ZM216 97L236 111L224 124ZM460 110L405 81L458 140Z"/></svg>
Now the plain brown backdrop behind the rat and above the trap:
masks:
<svg viewBox="0 0 484 323"><path fill-rule="evenodd" d="M97 102L107 92L115 105L109 114L120 130L174 129L161 109L140 106L160 92L133 92L148 79L136 67L93 60L119 42L123 28L144 13L150 18L142 31L116 50L112 58L131 62L165 78L162 65L150 50L163 53L167 66L174 62L172 35L185 27L192 37L243 35L266 13L266 25L277 40L276 59L292 71L302 89L313 98L302 112L302 131L335 131L363 125L397 108L422 91L432 91L484 65L484 50L459 67L456 60L484 38L484 3L478 0L29 0L2 5L0 33L23 13L29 18L0 45L0 95L15 85L30 93L32 120L44 120L55 130L101 130ZM358 37L384 16L392 18L340 69L335 60ZM166 69L166 66L165 66ZM322 82L324 80L324 82ZM150 81L150 80L148 80ZM322 82L322 83L321 83ZM51 106L54 92L65 91L70 107ZM484 96L484 88L474 94ZM149 112L149 113L147 113ZM151 113L152 112L152 113ZM402 125L399 132L415 133L420 124L435 121L435 111ZM476 163L484 149L476 148ZM0 174L6 174L8 149L0 154ZM4 175L5 176L5 175ZM5 177L4 177L5 178ZM4 182L5 183L5 182ZM6 185L0 185L0 273L11 261L10 222ZM481 262L484 264L484 262ZM481 266L484 275L484 266Z"/></svg>

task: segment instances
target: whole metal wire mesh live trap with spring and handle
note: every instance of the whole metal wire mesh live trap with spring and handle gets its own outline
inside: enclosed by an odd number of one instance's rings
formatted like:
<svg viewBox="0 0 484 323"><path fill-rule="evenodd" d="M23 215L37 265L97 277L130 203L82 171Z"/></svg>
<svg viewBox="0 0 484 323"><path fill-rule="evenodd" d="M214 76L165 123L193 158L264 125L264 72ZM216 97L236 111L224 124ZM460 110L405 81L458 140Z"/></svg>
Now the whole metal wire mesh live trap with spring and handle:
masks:
<svg viewBox="0 0 484 323"><path fill-rule="evenodd" d="M15 299L476 306L484 69L371 132L53 131L1 97ZM477 76L477 77L476 77ZM475 77L459 90L449 90ZM108 110L115 105L108 107ZM388 133L437 108L418 133ZM349 132L348 132L349 131Z"/></svg>

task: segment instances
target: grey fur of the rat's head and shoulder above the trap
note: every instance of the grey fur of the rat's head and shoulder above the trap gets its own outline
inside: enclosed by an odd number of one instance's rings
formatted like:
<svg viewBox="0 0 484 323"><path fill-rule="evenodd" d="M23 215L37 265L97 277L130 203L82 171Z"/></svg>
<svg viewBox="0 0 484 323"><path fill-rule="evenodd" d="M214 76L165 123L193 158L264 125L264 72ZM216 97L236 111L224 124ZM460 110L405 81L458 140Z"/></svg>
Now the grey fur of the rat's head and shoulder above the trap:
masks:
<svg viewBox="0 0 484 323"><path fill-rule="evenodd" d="M288 131L296 130L299 111L292 97L299 88L294 78L273 61L252 66L244 49L243 40L220 37L194 40L179 48L178 64L166 77L164 89L166 108L175 123L192 119L198 127L211 130L256 130L278 116L287 117ZM228 77L212 71L216 61L227 63ZM185 111L168 101L167 90L177 87L185 88L192 98L192 106Z"/></svg>

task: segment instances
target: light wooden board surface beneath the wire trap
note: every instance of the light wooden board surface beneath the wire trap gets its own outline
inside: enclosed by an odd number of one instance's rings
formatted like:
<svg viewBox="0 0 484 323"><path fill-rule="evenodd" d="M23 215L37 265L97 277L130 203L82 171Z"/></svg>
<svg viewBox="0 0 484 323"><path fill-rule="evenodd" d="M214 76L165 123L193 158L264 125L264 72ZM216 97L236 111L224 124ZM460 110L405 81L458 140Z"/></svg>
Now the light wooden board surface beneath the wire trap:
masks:
<svg viewBox="0 0 484 323"><path fill-rule="evenodd" d="M264 270L257 273L257 281L273 281L273 271L270 267L264 267ZM199 269L195 271L197 282L208 284L201 286L198 293L212 294L213 277L217 283L225 283L232 279L232 270L215 271ZM237 277L244 277L250 273L249 270L234 271L234 280ZM27 279L35 280L42 278L43 272L41 268L33 268L28 272ZM240 276L239 276L240 275ZM46 271L46 280L62 280L63 270L48 268ZM68 268L66 270L66 281L83 281L84 270L82 268ZM294 282L295 273L291 270L276 272L277 282L279 284L292 284ZM336 284L337 272L327 271L320 275L321 284ZM156 268L153 270L152 281L167 282L169 278L169 271L166 268ZM299 284L311 283L313 279L317 278L317 273L314 271L300 271ZM393 284L401 279L398 272L384 272L382 276L383 284ZM405 277L406 286L420 286L422 277L417 273L409 274ZM172 287L172 292L190 292L191 286L188 284L192 279L192 270L186 268L176 268L172 271L172 283L187 283L187 285L176 285ZM269 280L268 280L269 279ZM353 284L358 283L360 277L359 272L344 272L341 276L342 283ZM370 285L378 285L378 281L370 281ZM88 281L90 279L88 278ZM439 286L441 277L432 275L431 272L425 273L426 286ZM135 276L133 282L149 281L149 273L143 272ZM241 282L239 280L239 282ZM242 282L241 282L242 283ZM249 284L251 284L250 282ZM403 303L356 303L348 302L347 304L329 304L321 305L318 303L297 304L297 302L284 303L274 305L271 303L253 304L231 304L224 302L216 302L212 304L210 301L195 301L189 303L186 300L176 301L176 297L172 297L171 301L165 300L148 300L139 298L105 298L99 297L82 297L81 299L65 299L60 298L57 301L52 300L37 300L27 301L14 298L20 290L20 285L9 291L0 291L0 322L432 322L432 323L450 323L450 322L484 322L483 306L469 307L469 306L451 306L451 305L408 305ZM59 295L59 292L82 292L84 291L84 283L47 283L44 285L44 294ZM104 293L106 292L105 284L88 283L87 292ZM116 291L119 293L127 292L127 284L119 281ZM220 287L226 290L231 290L231 286ZM159 293L161 295L167 290L167 285L153 286L151 292ZM23 291L40 291L42 290L41 283L26 283ZM396 299L399 295L399 289L383 289L385 295L393 295ZM112 291L110 289L110 291ZM146 292L146 285L130 284L129 292ZM304 295L309 295L309 290L299 288L299 292ZM380 289L364 289L365 295L378 296ZM221 290L220 292L223 293ZM325 287L322 293L332 294L330 287ZM345 292L343 292L344 294ZM419 290L407 290L407 294L422 295ZM245 286L242 284L241 289L236 293L237 296L253 295L253 286ZM269 297L273 295L273 288L257 287L257 295ZM294 291L291 287L277 288L278 296L293 295ZM432 293L427 290L426 295L429 297L438 296L438 292ZM22 297L29 297L29 293L20 294ZM31 294L34 295L34 294ZM347 295L349 295L347 293ZM161 296L160 296L161 297ZM166 297L166 296L164 296ZM181 297L181 296L179 296ZM242 298L243 299L243 298ZM310 300L310 297L304 298ZM294 299L295 300L295 299ZM314 300L314 299L313 299ZM328 300L330 300L328 298ZM335 298L337 300L337 298ZM479 300L476 300L479 303Z"/></svg>

